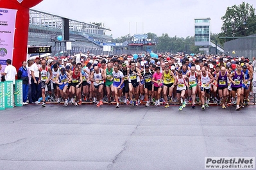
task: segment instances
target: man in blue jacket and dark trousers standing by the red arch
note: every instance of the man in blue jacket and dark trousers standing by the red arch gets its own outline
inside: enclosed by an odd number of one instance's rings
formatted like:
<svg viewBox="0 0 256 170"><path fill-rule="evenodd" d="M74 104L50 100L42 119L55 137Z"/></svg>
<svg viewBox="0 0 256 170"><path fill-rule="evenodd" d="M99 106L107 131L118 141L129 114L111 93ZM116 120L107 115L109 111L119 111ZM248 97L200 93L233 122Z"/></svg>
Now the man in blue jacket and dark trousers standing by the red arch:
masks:
<svg viewBox="0 0 256 170"><path fill-rule="evenodd" d="M28 104L28 69L27 69L27 62L22 61L22 66L19 68L18 71L18 79L22 80L22 93L23 93L23 105Z"/></svg>

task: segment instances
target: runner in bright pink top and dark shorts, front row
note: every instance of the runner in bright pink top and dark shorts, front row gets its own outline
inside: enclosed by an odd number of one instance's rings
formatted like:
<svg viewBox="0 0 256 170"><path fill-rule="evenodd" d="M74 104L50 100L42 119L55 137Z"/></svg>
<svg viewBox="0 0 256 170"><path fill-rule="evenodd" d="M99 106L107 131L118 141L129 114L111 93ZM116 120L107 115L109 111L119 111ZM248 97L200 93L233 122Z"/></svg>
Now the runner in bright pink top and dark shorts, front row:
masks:
<svg viewBox="0 0 256 170"><path fill-rule="evenodd" d="M154 82L154 93L155 93L155 105L160 105L159 98L162 91L162 82L160 79L162 77L162 73L160 73L160 67L155 68L155 73L153 75L153 82Z"/></svg>

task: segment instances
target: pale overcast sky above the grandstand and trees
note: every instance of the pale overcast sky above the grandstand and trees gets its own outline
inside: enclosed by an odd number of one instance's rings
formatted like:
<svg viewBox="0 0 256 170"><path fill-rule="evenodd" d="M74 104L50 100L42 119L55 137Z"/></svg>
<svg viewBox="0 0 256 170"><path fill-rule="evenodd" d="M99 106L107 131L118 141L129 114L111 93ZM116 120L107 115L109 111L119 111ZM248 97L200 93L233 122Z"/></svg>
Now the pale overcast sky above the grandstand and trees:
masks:
<svg viewBox="0 0 256 170"><path fill-rule="evenodd" d="M102 22L114 38L142 33L161 36L194 36L194 19L209 17L211 33L220 33L226 8L243 1L233 0L44 0L34 10L81 22ZM256 8L255 0L245 1ZM137 26L136 26L137 23Z"/></svg>

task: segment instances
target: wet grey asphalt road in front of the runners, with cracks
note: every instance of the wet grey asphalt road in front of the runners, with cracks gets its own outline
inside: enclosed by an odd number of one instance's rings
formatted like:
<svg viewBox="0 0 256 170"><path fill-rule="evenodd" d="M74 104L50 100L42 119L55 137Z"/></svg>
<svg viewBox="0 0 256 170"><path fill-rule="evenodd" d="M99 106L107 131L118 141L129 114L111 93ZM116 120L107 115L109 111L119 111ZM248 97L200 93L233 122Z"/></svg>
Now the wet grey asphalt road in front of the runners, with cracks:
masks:
<svg viewBox="0 0 256 170"><path fill-rule="evenodd" d="M256 157L255 108L6 109L0 169L204 169L205 157Z"/></svg>

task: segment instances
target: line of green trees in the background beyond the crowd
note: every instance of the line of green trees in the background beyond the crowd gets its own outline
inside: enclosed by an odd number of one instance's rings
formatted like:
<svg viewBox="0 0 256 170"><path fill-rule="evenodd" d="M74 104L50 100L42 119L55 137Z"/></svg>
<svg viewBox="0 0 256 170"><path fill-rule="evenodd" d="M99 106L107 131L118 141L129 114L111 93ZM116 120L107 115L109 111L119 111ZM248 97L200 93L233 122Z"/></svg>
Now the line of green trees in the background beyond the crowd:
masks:
<svg viewBox="0 0 256 170"><path fill-rule="evenodd" d="M225 42L233 40L230 38L220 39L220 36L235 37L235 36L249 36L256 34L256 15L255 8L249 3L243 2L239 5L234 5L226 8L226 13L221 17L223 25L221 26L221 33L211 34L210 40L218 42L219 45L224 45ZM194 36L171 37L167 33L157 36L155 33L147 33L148 39L155 42L153 46L154 51L164 52L184 52L185 54L198 53L198 46L194 45ZM132 42L131 35L124 35L119 38L112 39L112 42Z"/></svg>

